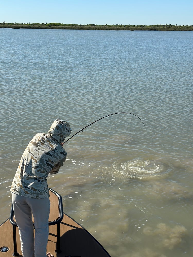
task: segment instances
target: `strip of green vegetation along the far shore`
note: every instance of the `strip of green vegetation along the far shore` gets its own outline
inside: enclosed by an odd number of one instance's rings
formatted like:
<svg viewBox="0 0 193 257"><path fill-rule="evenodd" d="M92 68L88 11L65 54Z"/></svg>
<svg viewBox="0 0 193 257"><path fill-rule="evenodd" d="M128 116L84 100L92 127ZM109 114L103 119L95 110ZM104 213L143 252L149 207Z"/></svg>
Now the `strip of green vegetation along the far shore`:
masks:
<svg viewBox="0 0 193 257"><path fill-rule="evenodd" d="M171 25L171 24L157 24L157 25L96 25L96 24L63 24L63 23L0 23L0 28L13 29L64 29L64 30L159 30L159 31L191 31L193 25Z"/></svg>

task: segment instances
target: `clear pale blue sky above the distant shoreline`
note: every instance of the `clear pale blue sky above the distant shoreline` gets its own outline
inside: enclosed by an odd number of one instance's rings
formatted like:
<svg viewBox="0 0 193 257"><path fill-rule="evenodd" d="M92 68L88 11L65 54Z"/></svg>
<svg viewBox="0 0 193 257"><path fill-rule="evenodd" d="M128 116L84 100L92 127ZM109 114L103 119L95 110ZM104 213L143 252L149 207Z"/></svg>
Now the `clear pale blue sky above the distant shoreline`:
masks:
<svg viewBox="0 0 193 257"><path fill-rule="evenodd" d="M0 4L0 22L193 25L193 0L33 0Z"/></svg>

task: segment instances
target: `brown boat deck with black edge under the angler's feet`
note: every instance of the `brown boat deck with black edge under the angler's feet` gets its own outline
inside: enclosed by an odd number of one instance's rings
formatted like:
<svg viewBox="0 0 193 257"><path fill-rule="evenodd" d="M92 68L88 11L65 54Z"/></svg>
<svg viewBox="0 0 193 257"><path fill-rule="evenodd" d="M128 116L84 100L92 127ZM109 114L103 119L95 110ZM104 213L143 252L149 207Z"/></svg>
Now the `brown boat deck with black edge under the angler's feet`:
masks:
<svg viewBox="0 0 193 257"><path fill-rule="evenodd" d="M55 221L59 217L58 197L50 191L50 218L49 221ZM35 230L34 230L35 231ZM21 257L21 247L18 227L16 227L17 252ZM49 226L49 237L47 252L54 257L76 256L76 257L110 257L106 250L95 238L87 232L76 221L64 214L60 221L60 253L56 252L57 246L57 224ZM8 247L7 252L0 251L0 257L13 256L13 225L8 219L0 226L0 249Z"/></svg>

